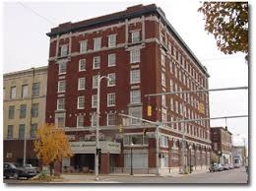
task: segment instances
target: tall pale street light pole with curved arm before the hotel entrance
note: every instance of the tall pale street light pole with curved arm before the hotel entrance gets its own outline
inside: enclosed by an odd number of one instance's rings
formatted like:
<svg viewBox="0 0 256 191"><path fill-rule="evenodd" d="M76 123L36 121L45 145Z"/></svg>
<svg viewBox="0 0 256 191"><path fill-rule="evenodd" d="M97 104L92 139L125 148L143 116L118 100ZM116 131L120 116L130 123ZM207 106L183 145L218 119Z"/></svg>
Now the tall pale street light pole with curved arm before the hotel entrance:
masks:
<svg viewBox="0 0 256 191"><path fill-rule="evenodd" d="M95 173L96 173L96 180L98 180L98 155L99 155L99 152L98 149L99 149L99 146L98 146L98 129L99 129L99 101L100 101L100 82L101 80L105 78L106 80L111 80L109 77L106 77L106 76L101 76L99 77L98 75L98 78L97 78L97 87L96 87L96 155L95 155Z"/></svg>

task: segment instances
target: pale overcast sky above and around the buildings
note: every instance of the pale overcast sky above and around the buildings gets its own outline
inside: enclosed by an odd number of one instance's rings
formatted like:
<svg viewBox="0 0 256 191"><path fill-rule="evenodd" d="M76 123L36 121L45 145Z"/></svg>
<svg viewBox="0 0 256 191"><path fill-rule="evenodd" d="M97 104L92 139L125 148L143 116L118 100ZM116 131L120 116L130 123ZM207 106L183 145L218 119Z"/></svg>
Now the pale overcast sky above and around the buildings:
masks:
<svg viewBox="0 0 256 191"><path fill-rule="evenodd" d="M121 2L121 1L120 1ZM243 54L224 55L214 36L204 31L199 1L94 1L3 3L3 73L46 66L49 37L46 32L61 23L78 22L123 11L136 4L157 4L169 23L197 58L208 68L211 89L248 86L248 65ZM211 117L248 114L248 91L210 93ZM224 120L211 126L225 126ZM235 145L248 138L248 118L227 119ZM240 136L236 136L240 134Z"/></svg>

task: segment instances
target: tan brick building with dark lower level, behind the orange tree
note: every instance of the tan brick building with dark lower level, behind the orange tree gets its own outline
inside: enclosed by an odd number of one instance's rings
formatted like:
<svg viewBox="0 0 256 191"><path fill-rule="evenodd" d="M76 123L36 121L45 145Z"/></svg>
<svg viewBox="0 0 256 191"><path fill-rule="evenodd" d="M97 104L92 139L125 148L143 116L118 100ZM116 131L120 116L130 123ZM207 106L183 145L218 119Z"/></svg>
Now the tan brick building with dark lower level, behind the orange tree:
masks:
<svg viewBox="0 0 256 191"><path fill-rule="evenodd" d="M46 85L47 67L4 74L4 161L38 164L32 140L45 123Z"/></svg>

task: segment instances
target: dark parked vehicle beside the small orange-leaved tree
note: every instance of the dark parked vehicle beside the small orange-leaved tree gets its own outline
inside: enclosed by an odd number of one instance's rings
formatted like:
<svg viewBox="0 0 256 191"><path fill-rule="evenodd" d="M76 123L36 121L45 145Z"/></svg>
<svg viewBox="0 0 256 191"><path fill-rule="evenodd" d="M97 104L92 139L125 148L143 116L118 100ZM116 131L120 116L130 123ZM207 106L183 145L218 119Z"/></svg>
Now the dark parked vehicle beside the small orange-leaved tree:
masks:
<svg viewBox="0 0 256 191"><path fill-rule="evenodd" d="M18 167L13 162L4 162L4 176L6 179L13 177L19 179L20 177L31 178L37 174L37 170L29 167Z"/></svg>

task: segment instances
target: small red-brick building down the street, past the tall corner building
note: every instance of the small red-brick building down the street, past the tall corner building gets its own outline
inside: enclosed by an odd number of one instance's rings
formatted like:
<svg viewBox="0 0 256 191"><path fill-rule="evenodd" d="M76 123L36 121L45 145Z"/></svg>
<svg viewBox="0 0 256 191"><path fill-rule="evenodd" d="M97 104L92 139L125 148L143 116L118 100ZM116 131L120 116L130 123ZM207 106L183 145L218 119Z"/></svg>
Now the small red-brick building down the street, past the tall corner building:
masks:
<svg viewBox="0 0 256 191"><path fill-rule="evenodd" d="M227 127L211 127L212 151L221 163L232 163L232 134Z"/></svg>

